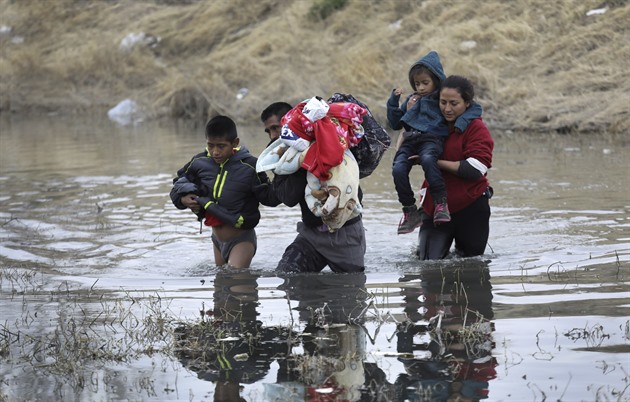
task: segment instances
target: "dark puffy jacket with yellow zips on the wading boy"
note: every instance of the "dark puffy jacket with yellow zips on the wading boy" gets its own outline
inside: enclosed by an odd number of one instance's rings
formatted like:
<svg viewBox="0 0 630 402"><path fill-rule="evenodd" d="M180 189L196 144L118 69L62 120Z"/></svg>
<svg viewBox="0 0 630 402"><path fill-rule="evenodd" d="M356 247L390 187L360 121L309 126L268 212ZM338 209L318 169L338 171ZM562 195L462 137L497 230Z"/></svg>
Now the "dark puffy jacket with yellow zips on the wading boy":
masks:
<svg viewBox="0 0 630 402"><path fill-rule="evenodd" d="M252 229L258 225L259 203L280 204L269 191L267 175L256 173L256 157L243 146L235 148L234 154L221 165L204 151L179 169L170 193L173 204L186 209L181 198L190 193L199 197L199 219L209 212L223 223L239 229Z"/></svg>

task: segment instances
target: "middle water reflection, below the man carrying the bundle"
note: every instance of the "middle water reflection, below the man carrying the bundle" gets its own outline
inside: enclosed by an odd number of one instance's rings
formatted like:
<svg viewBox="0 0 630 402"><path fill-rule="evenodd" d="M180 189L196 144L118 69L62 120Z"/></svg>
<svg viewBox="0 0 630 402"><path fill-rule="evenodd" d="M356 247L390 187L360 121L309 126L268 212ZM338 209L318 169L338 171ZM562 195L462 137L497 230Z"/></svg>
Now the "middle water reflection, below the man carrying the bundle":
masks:
<svg viewBox="0 0 630 402"><path fill-rule="evenodd" d="M281 362L265 400L356 401L366 381L365 274L297 274L280 289L297 301L304 353Z"/></svg>

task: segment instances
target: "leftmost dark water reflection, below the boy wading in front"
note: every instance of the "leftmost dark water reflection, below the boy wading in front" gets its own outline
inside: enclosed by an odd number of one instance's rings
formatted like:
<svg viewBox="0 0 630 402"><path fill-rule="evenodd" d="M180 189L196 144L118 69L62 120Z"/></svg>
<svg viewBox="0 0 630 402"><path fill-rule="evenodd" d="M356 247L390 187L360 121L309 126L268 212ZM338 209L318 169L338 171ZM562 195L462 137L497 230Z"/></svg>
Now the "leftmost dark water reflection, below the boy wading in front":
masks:
<svg viewBox="0 0 630 402"><path fill-rule="evenodd" d="M242 400L241 384L260 381L271 362L290 351L288 328L257 319L259 277L246 270L217 273L213 307L202 305L198 323L176 330L182 365L215 383L215 401Z"/></svg>

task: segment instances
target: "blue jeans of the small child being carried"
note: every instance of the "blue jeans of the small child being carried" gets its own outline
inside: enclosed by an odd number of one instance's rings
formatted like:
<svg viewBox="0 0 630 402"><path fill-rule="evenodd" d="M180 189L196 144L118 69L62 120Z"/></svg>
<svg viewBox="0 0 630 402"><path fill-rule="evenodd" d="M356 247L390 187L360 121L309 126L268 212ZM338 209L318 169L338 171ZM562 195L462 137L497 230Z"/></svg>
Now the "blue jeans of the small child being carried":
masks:
<svg viewBox="0 0 630 402"><path fill-rule="evenodd" d="M409 160L410 156L420 156L420 164L424 170L424 177L429 182L429 192L434 200L446 197L446 185L442 172L437 166L437 160L444 149L444 138L420 133L405 132L406 138L394 156L392 176L398 193L398 201L402 206L415 205L416 198L409 182L409 172L418 160Z"/></svg>

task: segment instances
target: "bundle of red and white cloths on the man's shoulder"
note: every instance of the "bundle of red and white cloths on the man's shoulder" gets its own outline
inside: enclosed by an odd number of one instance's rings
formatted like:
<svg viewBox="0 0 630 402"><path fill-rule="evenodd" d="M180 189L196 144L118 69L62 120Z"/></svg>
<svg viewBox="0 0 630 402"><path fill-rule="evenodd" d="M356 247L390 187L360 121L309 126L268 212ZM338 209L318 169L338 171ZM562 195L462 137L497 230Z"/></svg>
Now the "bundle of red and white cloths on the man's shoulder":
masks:
<svg viewBox="0 0 630 402"><path fill-rule="evenodd" d="M351 150L365 135L362 123L368 113L358 103L330 103L317 96L299 103L282 118L280 138L262 152L257 171L282 175L304 168L305 200L335 232L361 214L360 169Z"/></svg>

